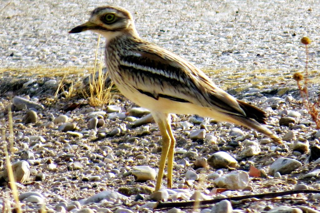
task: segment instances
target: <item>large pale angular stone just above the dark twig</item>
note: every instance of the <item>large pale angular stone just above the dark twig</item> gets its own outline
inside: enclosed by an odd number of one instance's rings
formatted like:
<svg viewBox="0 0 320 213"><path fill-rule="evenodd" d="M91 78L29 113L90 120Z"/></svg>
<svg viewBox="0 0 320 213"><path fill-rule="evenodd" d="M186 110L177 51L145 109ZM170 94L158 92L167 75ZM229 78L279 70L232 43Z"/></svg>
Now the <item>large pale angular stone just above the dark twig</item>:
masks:
<svg viewBox="0 0 320 213"><path fill-rule="evenodd" d="M229 174L215 179L213 183L219 188L242 190L248 186L249 175L247 172L242 170L232 171Z"/></svg>

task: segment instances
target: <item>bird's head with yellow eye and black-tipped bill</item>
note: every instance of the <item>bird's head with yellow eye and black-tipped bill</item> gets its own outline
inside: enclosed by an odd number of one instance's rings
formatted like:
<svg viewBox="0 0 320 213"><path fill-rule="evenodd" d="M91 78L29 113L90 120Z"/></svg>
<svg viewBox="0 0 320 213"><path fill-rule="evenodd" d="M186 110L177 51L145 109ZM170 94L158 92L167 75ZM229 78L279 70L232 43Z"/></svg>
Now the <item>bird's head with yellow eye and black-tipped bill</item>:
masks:
<svg viewBox="0 0 320 213"><path fill-rule="evenodd" d="M86 30L92 30L107 39L112 39L119 34L138 35L131 13L118 6L102 6L94 9L89 21L73 28L69 33L80 33Z"/></svg>

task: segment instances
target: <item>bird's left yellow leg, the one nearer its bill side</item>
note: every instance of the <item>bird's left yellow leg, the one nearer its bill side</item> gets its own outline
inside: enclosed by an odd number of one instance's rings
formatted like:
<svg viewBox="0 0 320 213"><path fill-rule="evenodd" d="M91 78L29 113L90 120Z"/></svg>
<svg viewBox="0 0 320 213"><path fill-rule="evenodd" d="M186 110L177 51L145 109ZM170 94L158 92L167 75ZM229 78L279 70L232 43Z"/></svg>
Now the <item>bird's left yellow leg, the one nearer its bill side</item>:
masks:
<svg viewBox="0 0 320 213"><path fill-rule="evenodd" d="M155 118L155 116L154 116ZM163 172L164 172L164 166L165 166L165 161L168 156L168 151L170 148L170 136L167 132L166 126L167 120L164 119L156 119L158 125L159 125L159 130L162 135L162 151L161 151L161 157L160 157L160 163L159 163L159 171L158 171L158 177L157 177L157 183L156 183L156 191L158 191L161 188L161 182L162 182L162 177L163 177Z"/></svg>

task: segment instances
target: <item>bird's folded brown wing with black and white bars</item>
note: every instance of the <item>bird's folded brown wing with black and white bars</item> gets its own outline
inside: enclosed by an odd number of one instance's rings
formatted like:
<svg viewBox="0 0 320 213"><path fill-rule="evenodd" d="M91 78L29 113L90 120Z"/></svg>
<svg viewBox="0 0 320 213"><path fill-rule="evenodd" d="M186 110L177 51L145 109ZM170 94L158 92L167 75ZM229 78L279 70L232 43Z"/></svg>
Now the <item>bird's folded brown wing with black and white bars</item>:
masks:
<svg viewBox="0 0 320 213"><path fill-rule="evenodd" d="M131 78L127 82L145 95L245 116L237 100L217 87L204 72L154 44L142 43L137 50L127 51L120 66L128 72L125 76Z"/></svg>

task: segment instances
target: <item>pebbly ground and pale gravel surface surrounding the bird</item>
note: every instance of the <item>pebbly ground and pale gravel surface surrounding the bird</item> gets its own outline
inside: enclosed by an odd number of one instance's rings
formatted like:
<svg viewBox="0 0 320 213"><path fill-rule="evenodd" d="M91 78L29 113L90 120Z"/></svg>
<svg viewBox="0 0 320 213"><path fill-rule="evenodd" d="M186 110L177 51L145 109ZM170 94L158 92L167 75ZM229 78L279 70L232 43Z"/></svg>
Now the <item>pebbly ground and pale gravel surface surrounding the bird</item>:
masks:
<svg viewBox="0 0 320 213"><path fill-rule="evenodd" d="M0 13L0 127L9 142L10 107L11 160L21 182L23 212L320 211L320 193L247 199L231 202L232 207L224 201L197 210L153 209L156 200L320 190L320 131L292 79L304 70L300 39L307 35L313 40L307 86L311 99L318 95L317 1L108 3L134 14L141 37L186 57L230 94L266 111L268 128L284 144L240 126L172 115L177 139L173 189L152 194L161 137L148 110L120 94L100 107L90 106L81 95L68 96L73 85L86 87L83 79L94 60L97 36L67 32L101 2L2 1L0 10L8 6ZM65 92L58 90L55 96L61 80ZM4 145L2 138L3 170ZM6 172L0 176L6 185ZM165 188L165 178L163 183ZM3 186L0 194L0 209L13 205L10 189Z"/></svg>

